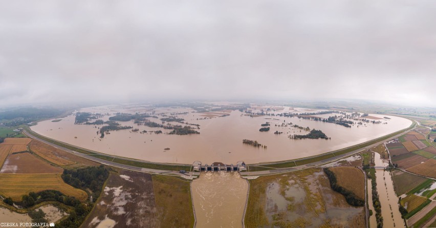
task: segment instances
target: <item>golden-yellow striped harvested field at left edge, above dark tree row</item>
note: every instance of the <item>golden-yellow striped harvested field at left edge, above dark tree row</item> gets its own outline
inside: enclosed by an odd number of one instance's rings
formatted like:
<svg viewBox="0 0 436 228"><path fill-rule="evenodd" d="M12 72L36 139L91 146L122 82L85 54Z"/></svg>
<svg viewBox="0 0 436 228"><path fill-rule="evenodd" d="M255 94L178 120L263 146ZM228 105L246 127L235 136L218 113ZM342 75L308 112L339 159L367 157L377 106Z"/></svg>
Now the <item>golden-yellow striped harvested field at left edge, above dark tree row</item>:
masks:
<svg viewBox="0 0 436 228"><path fill-rule="evenodd" d="M29 192L58 190L65 195L84 201L88 195L80 189L63 182L59 173L50 174L0 174L0 194L20 201Z"/></svg>

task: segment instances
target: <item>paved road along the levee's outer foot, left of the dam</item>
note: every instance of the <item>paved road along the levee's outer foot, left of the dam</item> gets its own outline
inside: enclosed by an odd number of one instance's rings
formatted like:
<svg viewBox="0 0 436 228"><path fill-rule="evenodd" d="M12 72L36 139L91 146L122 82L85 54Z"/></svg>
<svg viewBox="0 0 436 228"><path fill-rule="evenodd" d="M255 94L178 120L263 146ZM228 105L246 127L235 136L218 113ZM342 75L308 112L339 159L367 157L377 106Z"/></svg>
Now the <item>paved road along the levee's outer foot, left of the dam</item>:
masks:
<svg viewBox="0 0 436 228"><path fill-rule="evenodd" d="M117 168L121 168L121 169L137 171L137 172L143 172L143 173L151 173L151 174L155 173L155 174L170 175L170 176L177 175L177 176L181 176L181 177L183 177L185 179L192 179L192 175L191 175L192 173L190 173L190 172L186 172L186 174L181 174L181 173L176 172L176 171L154 170L154 169L140 168L140 167L135 167L133 165L126 165L126 164L120 164L120 163L117 163L117 162L107 161L107 160L104 160L104 159L96 158L96 157L93 157L93 156L90 156L90 155L87 155L87 154L82 154L82 153L79 153L77 151L70 150L68 148L64 148L64 147L58 146L58 145L56 145L56 144L54 144L52 142L49 142L49 141L40 139L40 138L38 138L36 136L33 136L33 135L29 134L26 130L23 130L23 133L26 134L28 137L30 137L32 139L35 139L35 140L41 141L43 143L49 144L50 146L55 147L57 149L66 151L66 152L74 154L76 156L83 157L83 158L86 158L86 159L89 159L89 160L92 160L92 161L95 161L95 162L98 162L98 163L101 163L101 164L110 165L112 167L117 167Z"/></svg>

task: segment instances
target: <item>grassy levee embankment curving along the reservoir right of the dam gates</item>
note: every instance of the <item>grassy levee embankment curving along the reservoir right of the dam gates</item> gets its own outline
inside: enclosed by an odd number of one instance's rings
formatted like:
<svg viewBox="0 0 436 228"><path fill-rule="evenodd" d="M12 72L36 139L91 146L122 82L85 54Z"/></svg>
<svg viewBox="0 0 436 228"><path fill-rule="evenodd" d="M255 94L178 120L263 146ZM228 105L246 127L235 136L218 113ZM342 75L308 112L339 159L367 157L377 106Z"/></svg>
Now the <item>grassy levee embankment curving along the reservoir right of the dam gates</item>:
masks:
<svg viewBox="0 0 436 228"><path fill-rule="evenodd" d="M277 163L273 163L273 164L261 164L261 166L270 167L270 168L290 168L290 167L294 167L295 164L304 165L304 164L310 164L313 162L326 160L329 158L334 158L334 157L337 157L339 155L343 155L343 154L346 154L346 153L349 153L349 152L352 152L355 150L362 149L364 147L370 146L370 145L375 144L377 142L382 142L390 137L394 137L398 134L401 134L405 131L408 131L408 130L414 128L415 126L416 126L416 122L413 121L413 123L406 129L403 129L403 130L400 130L400 131L397 131L397 132L394 132L394 133L391 133L391 134L388 134L388 135L385 135L385 136L382 136L382 137L379 137L379 138L376 138L373 140L369 140L369 141L366 141L366 142L363 142L363 143L360 143L360 144L357 144L357 145L354 145L351 147L347 147L347 148L340 149L337 151L327 152L327 153L324 153L321 155L316 155L316 156L311 156L311 157L305 157L305 158L299 158L299 159L288 160L288 161L283 161L283 162L277 162ZM251 165L256 165L256 164L251 164Z"/></svg>

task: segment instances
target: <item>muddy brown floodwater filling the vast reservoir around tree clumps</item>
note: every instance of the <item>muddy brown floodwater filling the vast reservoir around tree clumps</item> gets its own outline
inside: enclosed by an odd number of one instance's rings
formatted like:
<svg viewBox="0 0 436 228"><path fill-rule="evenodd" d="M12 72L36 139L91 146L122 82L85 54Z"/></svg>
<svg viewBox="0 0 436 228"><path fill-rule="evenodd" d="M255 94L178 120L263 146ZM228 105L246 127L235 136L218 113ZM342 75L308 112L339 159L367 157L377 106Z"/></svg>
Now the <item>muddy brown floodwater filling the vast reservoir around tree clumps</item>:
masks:
<svg viewBox="0 0 436 228"><path fill-rule="evenodd" d="M290 107L282 108L284 110L271 111L270 113L308 111ZM297 117L250 117L237 110L222 112L221 114L230 114L224 117L220 117L220 113L216 114L216 112L213 112L215 114L194 112L190 108L100 106L85 108L80 111L103 113L105 115L101 117L102 120L107 120L117 112L150 113L155 111L157 115L160 115L159 118L162 118L162 114L169 116L171 113L178 112L180 114L175 115L178 118L184 118L185 122L188 123L199 124L200 129L198 131L200 134L168 135L165 133L171 130L137 126L132 120L119 123L122 126L138 128L138 132L132 132L131 129L111 131L110 134L106 134L104 138L100 139L97 131L98 127L101 126L74 125L74 115L61 118L62 120L58 122L41 121L32 126L31 129L49 138L111 155L155 162L191 164L193 161L199 160L208 164L215 161L230 164L240 160L246 163L257 163L317 155L393 133L407 128L411 124L410 120L396 116L389 116L390 119L380 119L380 121L387 124L365 123L366 126L357 127L357 125L354 125L351 128L346 128L334 123L299 119ZM187 113L182 114L182 112ZM333 116L335 114L320 116L328 117L329 115ZM371 114L371 116L383 118L386 115ZM147 119L161 123L161 120L157 118L150 117ZM267 121L270 122L271 130L259 132L260 125ZM290 139L288 135L308 133L290 127L290 125L281 126L282 123L291 122L294 125L321 130L331 139ZM177 122L172 123L179 124ZM140 133L143 130L148 131L148 133ZM164 134L149 132L157 130L162 130ZM283 132L283 134L274 134L275 131ZM257 140L268 148L256 148L243 144L243 139ZM164 150L165 148L170 150Z"/></svg>

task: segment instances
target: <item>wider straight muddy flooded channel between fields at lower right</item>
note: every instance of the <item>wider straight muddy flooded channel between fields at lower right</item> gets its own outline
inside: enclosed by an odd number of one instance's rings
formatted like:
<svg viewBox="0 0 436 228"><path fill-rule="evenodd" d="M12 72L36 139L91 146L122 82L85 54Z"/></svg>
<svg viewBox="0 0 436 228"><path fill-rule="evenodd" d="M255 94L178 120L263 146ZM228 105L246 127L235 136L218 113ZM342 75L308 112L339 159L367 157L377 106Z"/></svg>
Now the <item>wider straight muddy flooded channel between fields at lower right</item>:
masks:
<svg viewBox="0 0 436 228"><path fill-rule="evenodd" d="M374 153L376 167L386 167L379 153ZM377 192L380 198L384 227L405 227L398 208L398 198L390 172L376 169Z"/></svg>

